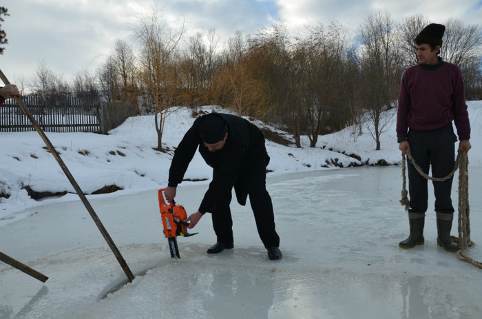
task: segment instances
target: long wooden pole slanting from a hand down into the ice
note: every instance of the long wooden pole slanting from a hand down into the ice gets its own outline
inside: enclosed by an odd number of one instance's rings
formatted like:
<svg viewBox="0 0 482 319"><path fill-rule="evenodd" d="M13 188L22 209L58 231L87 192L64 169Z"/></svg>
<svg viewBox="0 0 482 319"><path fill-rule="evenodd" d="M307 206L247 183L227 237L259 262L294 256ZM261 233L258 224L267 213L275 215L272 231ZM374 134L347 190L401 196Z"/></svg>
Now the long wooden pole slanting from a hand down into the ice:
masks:
<svg viewBox="0 0 482 319"><path fill-rule="evenodd" d="M0 70L0 78L1 78L1 81L3 81L3 83L10 84L7 77L5 76L5 74L3 74L3 72L1 70ZM131 269L129 269L129 266L127 266L127 263L125 262L123 256L121 255L121 251L119 251L117 249L116 245L114 244L114 241L112 240L112 238L107 233L107 230L105 229L101 220L98 218L96 212L94 212L94 208L92 208L89 201L85 197L85 194L83 194L81 187L78 186L77 182L74 179L74 176L72 176L72 174L70 174L69 169L67 169L67 166L65 165L65 163L63 163L63 160L60 157L59 153L55 150L54 145L52 145L52 143L50 143L50 140L47 138L47 136L45 135L45 133L43 132L41 127L39 127L39 123L37 123L34 116L32 116L32 114L30 113L30 110L28 110L28 107L25 106L22 99L19 96L14 96L14 99L17 101L17 103L19 103L23 113L25 113L25 115L28 117L30 122L32 122L32 125L34 125L36 132L38 132L40 134L41 138L45 142L45 145L47 145L48 149L50 150L50 152L52 153L52 155L56 159L57 163L59 163L60 167L62 168L62 170L65 174L65 176L67 176L70 183L72 184L75 191L77 192L78 196L81 198L82 203L84 204L85 208L87 209L87 212L89 212L90 216L94 220L94 223L96 223L98 229L101 231L102 236L104 236L105 241L107 242L110 249L114 253L114 256L116 256L119 264L121 265L122 269L124 270L124 272L127 276L127 279L129 280L129 282L132 282L132 280L134 280L134 274L132 274Z"/></svg>

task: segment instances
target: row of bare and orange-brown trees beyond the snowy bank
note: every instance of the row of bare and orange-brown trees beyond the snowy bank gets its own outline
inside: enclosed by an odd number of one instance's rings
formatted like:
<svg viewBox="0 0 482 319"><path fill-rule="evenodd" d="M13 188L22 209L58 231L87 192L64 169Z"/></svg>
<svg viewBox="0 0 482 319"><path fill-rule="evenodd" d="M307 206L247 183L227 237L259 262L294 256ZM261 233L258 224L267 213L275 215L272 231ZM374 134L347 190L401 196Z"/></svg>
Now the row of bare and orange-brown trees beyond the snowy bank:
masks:
<svg viewBox="0 0 482 319"><path fill-rule="evenodd" d="M374 12L355 32L337 22L300 34L271 25L248 36L237 32L220 45L214 30L187 37L184 24L169 25L156 13L138 20L135 45L118 40L94 74L78 72L70 83L40 65L30 91L156 114L159 149L165 113L176 105L221 105L291 132L299 147L302 134L314 147L319 134L348 125L358 127L356 138L368 121L379 149L401 75L418 62L414 39L430 23L421 14L397 22L389 12ZM481 27L443 24L441 58L461 68L467 99L482 99Z"/></svg>

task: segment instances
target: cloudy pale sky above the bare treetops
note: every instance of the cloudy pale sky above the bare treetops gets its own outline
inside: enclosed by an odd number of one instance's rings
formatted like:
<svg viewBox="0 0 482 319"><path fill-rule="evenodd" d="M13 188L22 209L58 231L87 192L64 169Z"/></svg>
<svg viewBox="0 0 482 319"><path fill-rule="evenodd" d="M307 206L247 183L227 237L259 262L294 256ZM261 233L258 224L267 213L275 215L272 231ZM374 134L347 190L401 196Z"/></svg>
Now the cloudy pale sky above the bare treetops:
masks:
<svg viewBox="0 0 482 319"><path fill-rule="evenodd" d="M8 0L0 6L10 14L1 23L8 44L0 69L12 83L32 79L41 63L69 81L76 72L94 73L117 39L134 43L132 28L155 6L165 21L185 21L187 34L216 30L220 42L237 30L255 34L273 23L294 32L337 21L356 30L377 10L395 21L412 14L435 23L482 21L482 0Z"/></svg>

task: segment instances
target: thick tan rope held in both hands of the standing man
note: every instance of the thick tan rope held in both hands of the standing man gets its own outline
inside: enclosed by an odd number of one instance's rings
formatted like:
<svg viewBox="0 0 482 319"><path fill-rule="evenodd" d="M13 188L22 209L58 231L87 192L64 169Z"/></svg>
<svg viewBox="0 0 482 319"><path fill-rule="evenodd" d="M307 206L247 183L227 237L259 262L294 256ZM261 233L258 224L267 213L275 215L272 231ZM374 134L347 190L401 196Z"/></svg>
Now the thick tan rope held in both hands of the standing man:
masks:
<svg viewBox="0 0 482 319"><path fill-rule="evenodd" d="M459 152L457 155L457 160L455 161L454 164L454 169L452 169L452 172L450 172L447 176L437 178L437 177L432 177L428 176L425 174L421 167L415 163L415 160L413 159L412 155L410 152L406 153L406 156L402 156L401 160L401 170L402 170L402 177L403 177L403 183L401 187L401 200L400 203L402 206L405 206L405 210L408 211L410 208L410 201L408 200L408 192L406 189L406 157L410 160L410 163L415 167L417 172L425 178L427 178L430 181L435 181L435 182L443 182L447 181L449 178L454 176L455 172L457 169L459 169L459 237L454 237L452 236L452 239L454 242L458 243L461 249L457 251L457 258L459 258L462 261L465 261L465 263L470 263L474 265L475 267L478 267L482 269L482 263L473 260L468 256L468 247L474 246L474 242L470 240L470 209L469 209L469 174L468 174L468 156L465 153L465 150L462 150L462 152Z"/></svg>

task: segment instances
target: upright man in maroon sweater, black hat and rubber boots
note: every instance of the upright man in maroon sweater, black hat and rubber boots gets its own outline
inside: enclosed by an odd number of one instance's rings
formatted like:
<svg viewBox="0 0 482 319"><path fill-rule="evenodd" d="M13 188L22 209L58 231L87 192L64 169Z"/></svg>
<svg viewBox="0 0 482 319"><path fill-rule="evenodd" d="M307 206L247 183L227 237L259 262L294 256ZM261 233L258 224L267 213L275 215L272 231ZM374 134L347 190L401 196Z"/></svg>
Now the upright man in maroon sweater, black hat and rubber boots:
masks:
<svg viewBox="0 0 482 319"><path fill-rule="evenodd" d="M439 57L445 26L431 23L415 38L418 65L408 68L401 80L397 112L397 139L403 155L410 152L415 162L432 176L447 176L454 168L454 134L459 136L458 152L470 150L470 123L465 104L462 74L457 65ZM427 180L408 163L410 235L399 243L401 248L423 245L425 212L428 208ZM437 244L447 251L460 249L450 238L454 207L452 178L433 182L437 214Z"/></svg>

